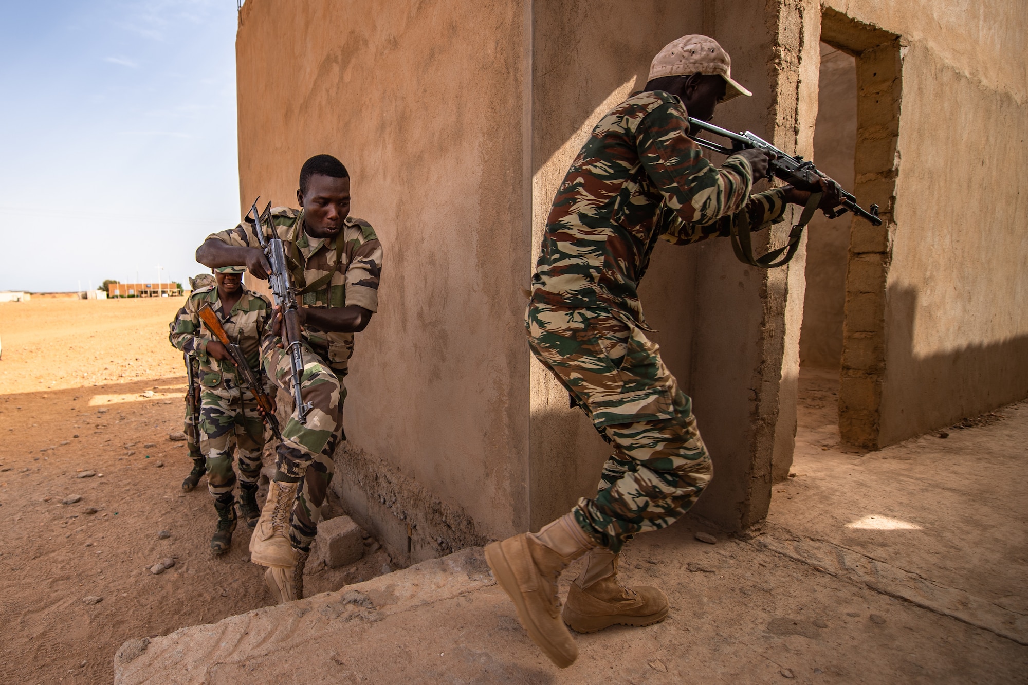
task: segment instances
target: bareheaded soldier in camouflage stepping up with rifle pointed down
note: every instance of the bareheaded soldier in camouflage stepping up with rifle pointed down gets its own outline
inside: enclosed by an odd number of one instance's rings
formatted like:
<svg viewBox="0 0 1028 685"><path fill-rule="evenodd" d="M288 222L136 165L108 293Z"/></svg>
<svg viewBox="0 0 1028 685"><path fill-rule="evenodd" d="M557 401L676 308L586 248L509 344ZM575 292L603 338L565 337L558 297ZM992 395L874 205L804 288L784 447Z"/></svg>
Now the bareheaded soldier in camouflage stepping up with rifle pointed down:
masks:
<svg viewBox="0 0 1028 685"><path fill-rule="evenodd" d="M303 593L303 567L332 478L332 454L345 439L343 377L354 333L364 330L378 310L382 263L381 244L371 225L350 216L350 174L338 159L327 154L308 159L299 186L296 200L302 209L281 207L271 214L302 304L300 388L303 401L314 408L301 424L293 407L283 427L276 475L250 540L250 558L268 567L265 579L280 602ZM251 275L266 279L270 265L254 230L248 220L215 233L196 251L196 259L209 266L245 262ZM290 362L281 338L265 342L261 361L272 382L292 396Z"/></svg>

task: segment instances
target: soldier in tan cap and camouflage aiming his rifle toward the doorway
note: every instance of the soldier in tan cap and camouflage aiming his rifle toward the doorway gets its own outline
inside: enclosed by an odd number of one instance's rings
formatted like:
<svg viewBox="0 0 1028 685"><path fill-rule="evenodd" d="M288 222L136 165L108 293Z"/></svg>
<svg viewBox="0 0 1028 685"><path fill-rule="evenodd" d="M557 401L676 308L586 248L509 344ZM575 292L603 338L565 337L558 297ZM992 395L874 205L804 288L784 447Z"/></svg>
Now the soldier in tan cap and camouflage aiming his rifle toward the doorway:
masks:
<svg viewBox="0 0 1028 685"><path fill-rule="evenodd" d="M673 41L654 59L644 92L600 118L557 190L527 311L528 341L614 454L595 498L537 534L488 545L486 560L533 641L563 668L578 648L564 622L590 633L650 625L667 615L656 587L624 587L618 553L637 533L665 528L696 502L712 468L692 414L648 332L637 288L658 239L688 245L780 221L792 187L750 195L768 155L745 150L721 168L689 137L687 116L749 93L724 49L705 36ZM688 113L687 113L688 112ZM832 197L825 188L822 207ZM588 553L559 613L557 578Z"/></svg>

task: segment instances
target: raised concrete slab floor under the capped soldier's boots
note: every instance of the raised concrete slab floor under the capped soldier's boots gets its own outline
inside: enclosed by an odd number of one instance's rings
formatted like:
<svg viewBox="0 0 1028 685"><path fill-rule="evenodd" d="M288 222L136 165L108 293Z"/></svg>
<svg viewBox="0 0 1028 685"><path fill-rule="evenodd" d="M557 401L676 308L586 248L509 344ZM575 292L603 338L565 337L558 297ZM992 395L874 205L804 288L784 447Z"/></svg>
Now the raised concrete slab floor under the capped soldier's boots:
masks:
<svg viewBox="0 0 1028 685"><path fill-rule="evenodd" d="M576 635L568 669L529 642L477 550L466 572L425 563L130 643L116 682L1028 683L1028 405L856 453L838 443L835 386L801 373L796 476L768 520L730 536L686 517L638 536L621 579L662 588L669 616Z"/></svg>

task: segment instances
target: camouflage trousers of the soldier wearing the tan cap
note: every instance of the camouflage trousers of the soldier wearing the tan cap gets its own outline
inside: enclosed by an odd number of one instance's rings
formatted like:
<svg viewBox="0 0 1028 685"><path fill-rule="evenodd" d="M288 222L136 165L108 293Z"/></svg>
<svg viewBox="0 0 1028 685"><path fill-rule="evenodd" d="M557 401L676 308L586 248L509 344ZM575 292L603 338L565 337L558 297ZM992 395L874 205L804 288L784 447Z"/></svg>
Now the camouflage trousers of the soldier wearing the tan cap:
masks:
<svg viewBox="0 0 1028 685"><path fill-rule="evenodd" d="M533 353L567 390L614 454L596 497L574 514L582 530L614 552L636 533L670 526L713 477L692 414L692 400L660 358L658 346L626 312L531 304Z"/></svg>

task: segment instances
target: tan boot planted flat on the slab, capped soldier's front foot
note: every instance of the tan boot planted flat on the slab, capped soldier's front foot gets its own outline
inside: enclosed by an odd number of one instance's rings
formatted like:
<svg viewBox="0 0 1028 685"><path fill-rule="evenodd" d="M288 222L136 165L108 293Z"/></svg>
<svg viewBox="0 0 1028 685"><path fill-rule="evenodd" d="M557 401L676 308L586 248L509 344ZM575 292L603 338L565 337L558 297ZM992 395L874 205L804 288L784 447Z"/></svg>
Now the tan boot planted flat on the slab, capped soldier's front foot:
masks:
<svg viewBox="0 0 1028 685"><path fill-rule="evenodd" d="M667 597L647 585L618 584L618 555L596 548L567 591L562 617L578 633L595 633L611 625L653 625L667 616Z"/></svg>

